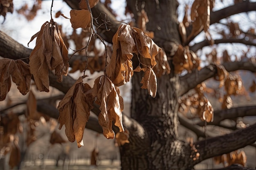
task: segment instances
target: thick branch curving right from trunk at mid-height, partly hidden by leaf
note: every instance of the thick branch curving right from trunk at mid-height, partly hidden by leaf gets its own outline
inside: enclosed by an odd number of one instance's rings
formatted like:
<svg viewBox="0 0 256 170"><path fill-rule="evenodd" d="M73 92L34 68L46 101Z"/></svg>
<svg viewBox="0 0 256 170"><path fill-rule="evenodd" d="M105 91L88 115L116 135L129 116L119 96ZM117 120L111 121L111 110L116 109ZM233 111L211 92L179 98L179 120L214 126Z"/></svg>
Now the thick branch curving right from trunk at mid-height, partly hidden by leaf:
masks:
<svg viewBox="0 0 256 170"><path fill-rule="evenodd" d="M228 72L236 70L247 70L256 72L256 64L252 62L226 62L222 64ZM200 71L194 70L180 77L180 91L179 95L182 96L189 90L195 88L198 84L216 75L216 65L210 64L202 68Z"/></svg>

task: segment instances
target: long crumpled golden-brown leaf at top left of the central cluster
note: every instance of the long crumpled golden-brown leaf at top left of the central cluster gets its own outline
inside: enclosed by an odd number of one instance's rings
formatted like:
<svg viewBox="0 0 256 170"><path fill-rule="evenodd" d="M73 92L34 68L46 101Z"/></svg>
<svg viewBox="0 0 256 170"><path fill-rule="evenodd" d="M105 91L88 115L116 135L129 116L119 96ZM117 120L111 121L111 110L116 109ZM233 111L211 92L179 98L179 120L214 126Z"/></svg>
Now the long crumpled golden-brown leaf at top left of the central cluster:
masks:
<svg viewBox="0 0 256 170"><path fill-rule="evenodd" d="M106 66L106 74L116 86L121 86L129 82L133 75L131 59L135 41L132 36L132 28L129 25L119 26L112 42L113 53L110 63Z"/></svg>

